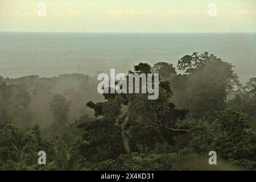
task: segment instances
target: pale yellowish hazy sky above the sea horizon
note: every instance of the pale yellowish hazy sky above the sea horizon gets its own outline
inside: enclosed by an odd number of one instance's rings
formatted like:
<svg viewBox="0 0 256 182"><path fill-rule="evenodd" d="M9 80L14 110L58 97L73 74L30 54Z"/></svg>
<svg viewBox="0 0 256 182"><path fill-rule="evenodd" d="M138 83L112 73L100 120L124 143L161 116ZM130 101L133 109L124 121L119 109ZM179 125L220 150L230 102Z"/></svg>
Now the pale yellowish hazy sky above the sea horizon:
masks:
<svg viewBox="0 0 256 182"><path fill-rule="evenodd" d="M0 0L0 31L256 32L255 2ZM46 5L45 17L38 15L40 3ZM210 3L217 16L209 16Z"/></svg>

